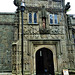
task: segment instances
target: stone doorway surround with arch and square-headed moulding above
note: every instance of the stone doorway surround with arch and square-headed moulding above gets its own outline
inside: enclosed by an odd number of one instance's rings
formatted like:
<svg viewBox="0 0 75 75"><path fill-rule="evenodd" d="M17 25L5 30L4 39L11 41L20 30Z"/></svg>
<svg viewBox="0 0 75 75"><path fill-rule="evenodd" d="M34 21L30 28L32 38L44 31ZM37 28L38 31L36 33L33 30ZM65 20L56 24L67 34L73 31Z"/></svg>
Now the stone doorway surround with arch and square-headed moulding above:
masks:
<svg viewBox="0 0 75 75"><path fill-rule="evenodd" d="M52 51L53 53L53 62L54 62L54 72L57 72L58 70L58 59L57 59L57 53L60 52L59 48L59 42L60 40L29 40L32 48L30 49L32 51L33 56L33 73L36 74L36 52L41 48L47 48Z"/></svg>

